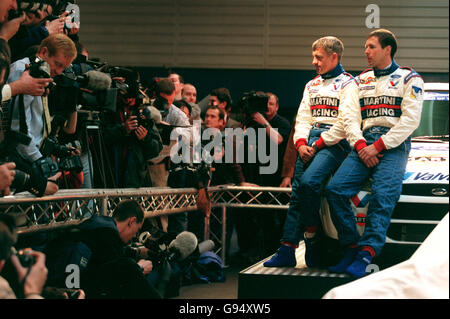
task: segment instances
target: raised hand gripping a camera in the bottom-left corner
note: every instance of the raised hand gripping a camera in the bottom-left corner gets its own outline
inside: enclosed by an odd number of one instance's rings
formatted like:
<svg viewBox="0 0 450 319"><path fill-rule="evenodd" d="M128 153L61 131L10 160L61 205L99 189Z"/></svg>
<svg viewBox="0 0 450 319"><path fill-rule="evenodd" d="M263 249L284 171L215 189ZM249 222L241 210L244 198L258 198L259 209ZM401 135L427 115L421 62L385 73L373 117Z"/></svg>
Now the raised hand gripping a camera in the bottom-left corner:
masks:
<svg viewBox="0 0 450 319"><path fill-rule="evenodd" d="M22 267L17 256L12 255L11 262L17 270L19 282L25 280L23 287L24 295L41 295L48 274L47 267L45 267L45 255L38 251L31 251L29 254L35 258L35 263L31 266L29 272L27 268Z"/></svg>

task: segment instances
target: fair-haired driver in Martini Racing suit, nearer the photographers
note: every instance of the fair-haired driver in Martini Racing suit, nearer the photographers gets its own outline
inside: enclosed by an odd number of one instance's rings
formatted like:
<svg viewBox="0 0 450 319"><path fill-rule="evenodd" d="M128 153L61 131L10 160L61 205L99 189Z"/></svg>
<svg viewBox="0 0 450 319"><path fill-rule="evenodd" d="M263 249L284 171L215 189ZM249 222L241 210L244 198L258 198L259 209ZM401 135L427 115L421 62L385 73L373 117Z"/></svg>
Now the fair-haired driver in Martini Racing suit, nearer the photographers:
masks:
<svg viewBox="0 0 450 319"><path fill-rule="evenodd" d="M281 245L265 267L295 267L295 249L303 235L307 267L320 260L319 209L322 184L350 152L340 121L340 101L346 83L352 79L340 63L344 45L327 36L312 45L312 64L318 75L309 81L295 121L293 142L299 153L296 162L289 209L283 227Z"/></svg>

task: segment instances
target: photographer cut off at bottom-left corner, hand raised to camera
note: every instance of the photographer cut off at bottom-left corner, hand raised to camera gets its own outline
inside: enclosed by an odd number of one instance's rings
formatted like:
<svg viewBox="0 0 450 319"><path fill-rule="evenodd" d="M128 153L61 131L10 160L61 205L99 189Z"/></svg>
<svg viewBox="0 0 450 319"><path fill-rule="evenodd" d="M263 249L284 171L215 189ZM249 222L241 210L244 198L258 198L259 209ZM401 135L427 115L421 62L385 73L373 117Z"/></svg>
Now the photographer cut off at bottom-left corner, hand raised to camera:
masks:
<svg viewBox="0 0 450 319"><path fill-rule="evenodd" d="M5 264L9 261L16 273L18 281L23 290L19 295L27 299L42 299L41 293L47 279L47 268L45 267L45 255L37 251L29 251L28 257L34 259L34 263L29 268L22 266L19 258L12 254L12 246L17 241L15 220L9 215L0 215L0 273ZM10 283L0 276L0 299L16 299Z"/></svg>

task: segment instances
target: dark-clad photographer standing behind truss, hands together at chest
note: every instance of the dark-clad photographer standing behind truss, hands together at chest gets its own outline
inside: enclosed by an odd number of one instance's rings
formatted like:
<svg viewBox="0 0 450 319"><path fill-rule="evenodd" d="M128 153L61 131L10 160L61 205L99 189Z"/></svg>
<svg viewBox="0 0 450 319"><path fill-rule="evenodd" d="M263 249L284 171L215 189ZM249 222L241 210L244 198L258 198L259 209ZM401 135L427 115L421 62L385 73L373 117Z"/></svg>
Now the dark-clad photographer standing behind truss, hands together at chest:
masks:
<svg viewBox="0 0 450 319"><path fill-rule="evenodd" d="M100 113L108 158L113 163L112 187L151 187L147 161L162 149L161 137L147 108L141 107L139 73L119 68L113 80L120 88L117 110Z"/></svg>

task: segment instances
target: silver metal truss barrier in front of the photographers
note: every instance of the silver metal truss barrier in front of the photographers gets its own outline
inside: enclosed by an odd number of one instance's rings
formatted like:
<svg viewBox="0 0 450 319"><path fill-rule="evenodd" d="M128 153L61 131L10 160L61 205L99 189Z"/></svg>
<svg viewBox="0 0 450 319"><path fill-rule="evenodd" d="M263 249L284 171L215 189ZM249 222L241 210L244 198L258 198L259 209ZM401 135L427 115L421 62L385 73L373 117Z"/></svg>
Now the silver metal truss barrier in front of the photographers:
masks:
<svg viewBox="0 0 450 319"><path fill-rule="evenodd" d="M216 253L225 264L226 208L287 209L291 189L217 186L209 188L208 193L213 209L205 218L205 239L218 243ZM0 198L0 212L15 215L18 233L25 234L72 227L94 214L110 216L123 199L135 199L146 218L197 210L194 188L138 188L60 190L39 198L21 193ZM219 231L211 231L211 220L220 225Z"/></svg>

